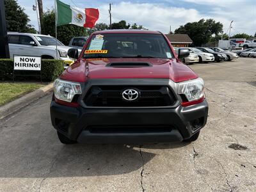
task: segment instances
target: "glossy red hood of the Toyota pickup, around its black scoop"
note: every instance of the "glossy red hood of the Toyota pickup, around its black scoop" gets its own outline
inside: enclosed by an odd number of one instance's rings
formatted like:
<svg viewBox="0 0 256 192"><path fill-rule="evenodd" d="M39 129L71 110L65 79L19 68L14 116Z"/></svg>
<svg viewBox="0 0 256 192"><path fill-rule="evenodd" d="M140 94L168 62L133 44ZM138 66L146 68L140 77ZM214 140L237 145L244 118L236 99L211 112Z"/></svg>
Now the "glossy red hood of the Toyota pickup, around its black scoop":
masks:
<svg viewBox="0 0 256 192"><path fill-rule="evenodd" d="M111 62L147 62L152 67L106 67ZM177 58L102 58L81 59L61 74L67 81L84 82L88 79L158 78L171 79L174 82L188 81L198 76Z"/></svg>

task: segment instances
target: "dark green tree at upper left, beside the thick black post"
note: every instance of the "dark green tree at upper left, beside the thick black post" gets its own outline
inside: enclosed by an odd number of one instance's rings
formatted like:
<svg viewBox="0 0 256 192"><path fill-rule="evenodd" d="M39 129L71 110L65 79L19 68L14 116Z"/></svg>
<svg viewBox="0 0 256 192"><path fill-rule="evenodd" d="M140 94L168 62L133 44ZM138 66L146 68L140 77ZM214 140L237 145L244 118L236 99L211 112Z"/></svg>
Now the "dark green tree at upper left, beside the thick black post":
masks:
<svg viewBox="0 0 256 192"><path fill-rule="evenodd" d="M15 0L4 0L7 31L36 33L35 28L28 24L30 21L24 8Z"/></svg>

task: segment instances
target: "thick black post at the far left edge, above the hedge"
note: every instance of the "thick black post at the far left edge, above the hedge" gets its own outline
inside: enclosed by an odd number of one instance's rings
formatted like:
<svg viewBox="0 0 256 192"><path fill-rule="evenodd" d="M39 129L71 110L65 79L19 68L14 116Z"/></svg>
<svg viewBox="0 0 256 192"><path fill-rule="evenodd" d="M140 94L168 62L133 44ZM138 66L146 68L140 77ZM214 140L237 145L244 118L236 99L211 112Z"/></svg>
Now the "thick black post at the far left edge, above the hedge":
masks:
<svg viewBox="0 0 256 192"><path fill-rule="evenodd" d="M0 0L0 58L10 58L4 0Z"/></svg>

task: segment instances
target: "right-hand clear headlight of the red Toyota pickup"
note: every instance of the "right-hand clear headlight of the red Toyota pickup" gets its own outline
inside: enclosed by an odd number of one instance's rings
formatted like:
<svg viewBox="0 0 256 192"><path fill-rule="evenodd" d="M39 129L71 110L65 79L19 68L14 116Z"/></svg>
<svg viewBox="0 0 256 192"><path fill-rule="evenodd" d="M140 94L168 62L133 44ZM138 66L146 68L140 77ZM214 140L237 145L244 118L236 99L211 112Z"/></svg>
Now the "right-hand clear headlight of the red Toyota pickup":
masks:
<svg viewBox="0 0 256 192"><path fill-rule="evenodd" d="M179 83L179 94L185 95L188 101L202 98L204 96L204 80L198 77Z"/></svg>

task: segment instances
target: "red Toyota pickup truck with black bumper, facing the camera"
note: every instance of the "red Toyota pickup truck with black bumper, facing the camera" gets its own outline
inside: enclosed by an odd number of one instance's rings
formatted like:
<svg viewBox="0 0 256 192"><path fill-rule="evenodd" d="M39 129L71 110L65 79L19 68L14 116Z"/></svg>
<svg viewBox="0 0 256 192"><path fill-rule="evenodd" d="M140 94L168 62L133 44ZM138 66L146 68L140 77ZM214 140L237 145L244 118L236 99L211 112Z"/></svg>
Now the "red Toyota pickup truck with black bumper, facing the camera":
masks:
<svg viewBox="0 0 256 192"><path fill-rule="evenodd" d="M54 81L51 121L62 143L195 141L207 122L204 81L180 62L162 33L90 35Z"/></svg>

